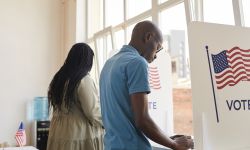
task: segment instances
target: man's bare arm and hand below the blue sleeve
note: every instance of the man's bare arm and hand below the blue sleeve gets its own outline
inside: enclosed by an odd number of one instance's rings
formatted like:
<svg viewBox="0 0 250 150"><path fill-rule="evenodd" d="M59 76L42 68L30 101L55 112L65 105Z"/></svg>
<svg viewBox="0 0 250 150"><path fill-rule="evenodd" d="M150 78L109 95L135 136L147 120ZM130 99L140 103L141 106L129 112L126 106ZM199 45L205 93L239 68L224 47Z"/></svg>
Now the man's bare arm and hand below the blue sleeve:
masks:
<svg viewBox="0 0 250 150"><path fill-rule="evenodd" d="M174 150L186 150L191 146L192 140L187 139L185 136L172 140L163 134L149 116L148 96L146 93L134 93L130 95L130 99L135 124L149 139Z"/></svg>

